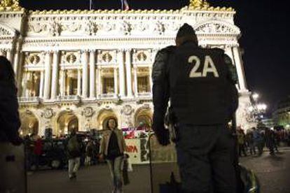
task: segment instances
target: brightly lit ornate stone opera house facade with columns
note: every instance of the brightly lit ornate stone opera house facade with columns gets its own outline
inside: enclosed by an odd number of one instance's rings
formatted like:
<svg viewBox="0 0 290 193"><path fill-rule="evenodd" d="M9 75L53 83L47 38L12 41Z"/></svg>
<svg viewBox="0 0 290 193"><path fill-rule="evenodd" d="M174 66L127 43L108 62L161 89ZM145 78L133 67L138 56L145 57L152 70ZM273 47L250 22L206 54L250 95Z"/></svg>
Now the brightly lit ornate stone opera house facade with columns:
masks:
<svg viewBox="0 0 290 193"><path fill-rule="evenodd" d="M245 129L249 91L234 23L235 10L191 0L180 10L25 10L18 0L0 5L0 54L18 80L22 132L54 135L151 125L151 71L156 52L174 45L187 22L201 46L233 59L239 83L237 124Z"/></svg>

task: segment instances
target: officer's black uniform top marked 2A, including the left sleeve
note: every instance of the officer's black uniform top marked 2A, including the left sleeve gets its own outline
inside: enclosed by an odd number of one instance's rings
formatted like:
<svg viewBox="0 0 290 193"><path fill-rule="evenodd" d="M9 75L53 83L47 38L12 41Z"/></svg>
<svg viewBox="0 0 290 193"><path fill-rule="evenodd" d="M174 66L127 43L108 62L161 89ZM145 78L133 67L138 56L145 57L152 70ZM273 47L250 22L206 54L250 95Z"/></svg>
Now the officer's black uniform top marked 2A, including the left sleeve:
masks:
<svg viewBox="0 0 290 193"><path fill-rule="evenodd" d="M236 75L221 49L199 48L188 41L156 55L152 71L153 122L163 124L170 99L177 121L224 124L237 109Z"/></svg>

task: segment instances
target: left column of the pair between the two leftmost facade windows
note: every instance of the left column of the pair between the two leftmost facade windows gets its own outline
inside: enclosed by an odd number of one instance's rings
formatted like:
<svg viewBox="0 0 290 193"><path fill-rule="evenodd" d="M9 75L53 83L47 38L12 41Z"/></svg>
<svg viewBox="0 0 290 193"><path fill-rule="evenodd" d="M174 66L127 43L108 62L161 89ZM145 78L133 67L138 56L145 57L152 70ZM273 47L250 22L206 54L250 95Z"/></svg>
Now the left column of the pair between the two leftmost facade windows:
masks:
<svg viewBox="0 0 290 193"><path fill-rule="evenodd" d="M44 94L43 98L44 99L49 99L49 94L50 94L50 76L51 76L51 54L50 52L46 52L46 60L45 60L45 75L44 75Z"/></svg>

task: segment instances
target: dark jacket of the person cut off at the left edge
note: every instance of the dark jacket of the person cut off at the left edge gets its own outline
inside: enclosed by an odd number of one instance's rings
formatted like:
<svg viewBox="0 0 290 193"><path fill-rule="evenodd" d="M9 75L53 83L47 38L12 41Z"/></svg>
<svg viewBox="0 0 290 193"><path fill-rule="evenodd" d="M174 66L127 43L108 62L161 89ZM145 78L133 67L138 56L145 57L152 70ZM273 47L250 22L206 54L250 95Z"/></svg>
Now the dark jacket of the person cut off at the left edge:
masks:
<svg viewBox="0 0 290 193"><path fill-rule="evenodd" d="M12 141L19 128L17 90L14 85L0 81L0 142Z"/></svg>

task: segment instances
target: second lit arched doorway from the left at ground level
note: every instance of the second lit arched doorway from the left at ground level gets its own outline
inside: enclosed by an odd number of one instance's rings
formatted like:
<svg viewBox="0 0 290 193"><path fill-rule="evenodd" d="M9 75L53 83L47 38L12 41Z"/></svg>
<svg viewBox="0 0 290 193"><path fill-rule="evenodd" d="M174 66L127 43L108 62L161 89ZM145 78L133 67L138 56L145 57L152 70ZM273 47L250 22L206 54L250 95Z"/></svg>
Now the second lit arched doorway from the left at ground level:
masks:
<svg viewBox="0 0 290 193"><path fill-rule="evenodd" d="M57 135L78 131L78 117L74 113L62 113L57 120Z"/></svg>

